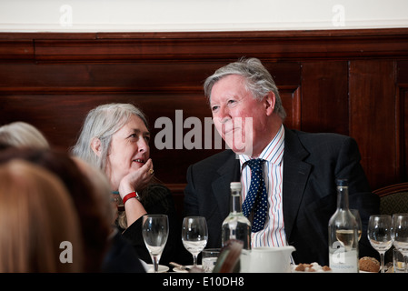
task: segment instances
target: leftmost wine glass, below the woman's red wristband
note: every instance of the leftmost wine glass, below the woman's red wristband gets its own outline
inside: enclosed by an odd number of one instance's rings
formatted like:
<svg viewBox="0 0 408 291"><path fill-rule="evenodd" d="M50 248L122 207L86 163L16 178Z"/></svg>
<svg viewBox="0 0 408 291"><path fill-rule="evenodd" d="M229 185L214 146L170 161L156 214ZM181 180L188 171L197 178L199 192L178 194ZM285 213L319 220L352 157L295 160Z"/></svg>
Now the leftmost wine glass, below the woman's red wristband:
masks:
<svg viewBox="0 0 408 291"><path fill-rule="evenodd" d="M158 273L160 257L169 236L168 217L165 215L144 215L142 235L144 244L152 257L154 273Z"/></svg>

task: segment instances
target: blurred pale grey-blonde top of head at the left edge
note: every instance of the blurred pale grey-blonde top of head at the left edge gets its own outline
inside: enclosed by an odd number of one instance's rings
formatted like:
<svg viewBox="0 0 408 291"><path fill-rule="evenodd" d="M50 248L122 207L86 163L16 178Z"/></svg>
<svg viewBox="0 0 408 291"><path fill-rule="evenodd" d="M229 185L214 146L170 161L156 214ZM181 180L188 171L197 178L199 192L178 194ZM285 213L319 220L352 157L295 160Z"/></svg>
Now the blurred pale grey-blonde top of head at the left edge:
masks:
<svg viewBox="0 0 408 291"><path fill-rule="evenodd" d="M0 144L4 147L50 147L45 136L34 125L22 121L0 127Z"/></svg>

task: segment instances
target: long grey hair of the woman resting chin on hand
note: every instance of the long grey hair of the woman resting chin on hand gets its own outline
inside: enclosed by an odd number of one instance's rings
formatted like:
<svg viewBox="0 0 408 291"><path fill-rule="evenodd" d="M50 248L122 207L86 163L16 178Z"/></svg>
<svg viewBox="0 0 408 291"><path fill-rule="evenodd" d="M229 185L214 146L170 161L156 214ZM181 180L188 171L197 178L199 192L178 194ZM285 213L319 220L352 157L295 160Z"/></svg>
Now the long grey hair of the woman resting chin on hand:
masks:
<svg viewBox="0 0 408 291"><path fill-rule="evenodd" d="M109 154L112 136L121 129L133 115L140 117L147 128L144 113L132 104L105 104L92 109L86 115L84 125L75 146L72 147L73 156L78 156L105 171L106 160ZM94 138L101 142L102 155L95 155L91 143Z"/></svg>

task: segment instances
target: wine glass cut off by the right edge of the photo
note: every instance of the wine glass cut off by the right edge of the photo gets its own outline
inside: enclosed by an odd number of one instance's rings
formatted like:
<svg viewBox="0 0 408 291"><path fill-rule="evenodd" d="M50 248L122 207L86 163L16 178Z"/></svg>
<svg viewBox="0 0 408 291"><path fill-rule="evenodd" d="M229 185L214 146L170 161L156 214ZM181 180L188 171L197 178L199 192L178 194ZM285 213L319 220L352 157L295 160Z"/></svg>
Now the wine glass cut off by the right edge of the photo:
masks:
<svg viewBox="0 0 408 291"><path fill-rule="evenodd" d="M393 215L393 246L405 258L405 273L408 273L408 214Z"/></svg>

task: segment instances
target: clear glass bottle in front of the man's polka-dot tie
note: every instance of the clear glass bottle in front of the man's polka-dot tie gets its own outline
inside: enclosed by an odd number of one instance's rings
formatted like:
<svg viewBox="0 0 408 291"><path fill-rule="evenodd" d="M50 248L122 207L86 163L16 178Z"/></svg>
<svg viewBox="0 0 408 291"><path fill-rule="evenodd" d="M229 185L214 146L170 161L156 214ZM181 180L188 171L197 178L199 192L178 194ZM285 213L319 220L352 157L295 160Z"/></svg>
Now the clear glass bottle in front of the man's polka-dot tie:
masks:
<svg viewBox="0 0 408 291"><path fill-rule="evenodd" d="M232 182L231 188L231 212L225 218L222 226L223 246L229 239L237 239L244 242L243 249L251 249L251 223L242 211L240 182Z"/></svg>

